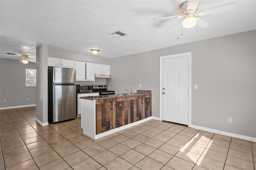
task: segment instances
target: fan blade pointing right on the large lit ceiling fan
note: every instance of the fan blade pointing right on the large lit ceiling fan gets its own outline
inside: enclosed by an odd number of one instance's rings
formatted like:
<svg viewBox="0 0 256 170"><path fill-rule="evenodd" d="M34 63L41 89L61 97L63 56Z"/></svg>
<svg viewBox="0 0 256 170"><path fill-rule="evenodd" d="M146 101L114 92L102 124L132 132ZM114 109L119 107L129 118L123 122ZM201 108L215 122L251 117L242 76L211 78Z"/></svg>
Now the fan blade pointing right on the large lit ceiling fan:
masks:
<svg viewBox="0 0 256 170"><path fill-rule="evenodd" d="M226 5L210 8L207 10L202 10L202 11L198 12L198 14L196 14L196 15L202 16L202 15L208 15L208 14L215 14L215 13L219 13L219 12L231 11L231 10L234 10L235 8L236 8L236 3L231 3L231 4L226 4Z"/></svg>

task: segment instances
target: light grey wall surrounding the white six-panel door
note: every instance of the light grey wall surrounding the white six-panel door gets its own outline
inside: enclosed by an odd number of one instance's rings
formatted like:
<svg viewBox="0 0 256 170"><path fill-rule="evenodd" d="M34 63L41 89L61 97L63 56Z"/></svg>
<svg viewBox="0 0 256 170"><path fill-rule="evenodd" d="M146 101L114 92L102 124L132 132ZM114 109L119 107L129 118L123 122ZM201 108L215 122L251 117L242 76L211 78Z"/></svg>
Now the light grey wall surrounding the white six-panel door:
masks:
<svg viewBox="0 0 256 170"><path fill-rule="evenodd" d="M256 30L114 58L108 87L152 90L152 116L159 117L159 57L185 52L192 52L192 87L198 85L192 125L255 138Z"/></svg>

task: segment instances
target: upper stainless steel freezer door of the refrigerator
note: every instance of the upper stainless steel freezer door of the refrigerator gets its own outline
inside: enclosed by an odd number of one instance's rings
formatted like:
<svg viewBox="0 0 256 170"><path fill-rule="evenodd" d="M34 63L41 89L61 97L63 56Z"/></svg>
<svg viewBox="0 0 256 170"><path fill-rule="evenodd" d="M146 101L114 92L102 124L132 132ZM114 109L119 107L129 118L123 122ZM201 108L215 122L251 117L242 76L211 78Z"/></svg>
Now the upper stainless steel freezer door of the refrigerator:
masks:
<svg viewBox="0 0 256 170"><path fill-rule="evenodd" d="M52 83L76 83L76 69L52 68Z"/></svg>

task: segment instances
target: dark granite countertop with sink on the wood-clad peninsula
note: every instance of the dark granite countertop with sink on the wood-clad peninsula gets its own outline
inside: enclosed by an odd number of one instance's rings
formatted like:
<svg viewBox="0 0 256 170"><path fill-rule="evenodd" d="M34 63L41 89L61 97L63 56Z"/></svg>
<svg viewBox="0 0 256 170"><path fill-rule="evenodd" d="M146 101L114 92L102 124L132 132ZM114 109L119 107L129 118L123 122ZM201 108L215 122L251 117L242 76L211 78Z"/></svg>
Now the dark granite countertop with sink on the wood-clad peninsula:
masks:
<svg viewBox="0 0 256 170"><path fill-rule="evenodd" d="M139 95L146 95L151 94L151 90L140 90L133 95L124 94L116 94L116 95L101 95L101 96L89 96L89 97L80 97L80 99L88 99L88 100L96 100L96 99L109 99L109 98L116 98L116 97L128 97L128 96L139 96Z"/></svg>

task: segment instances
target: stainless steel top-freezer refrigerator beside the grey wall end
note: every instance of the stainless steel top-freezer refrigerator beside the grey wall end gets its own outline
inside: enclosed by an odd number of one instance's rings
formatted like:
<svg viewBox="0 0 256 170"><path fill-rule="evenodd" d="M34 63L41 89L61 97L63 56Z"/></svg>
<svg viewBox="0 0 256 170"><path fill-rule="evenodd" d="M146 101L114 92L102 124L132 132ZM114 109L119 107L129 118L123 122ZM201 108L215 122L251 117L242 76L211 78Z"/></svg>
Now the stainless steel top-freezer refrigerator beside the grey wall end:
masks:
<svg viewBox="0 0 256 170"><path fill-rule="evenodd" d="M48 67L48 121L76 118L76 69Z"/></svg>

